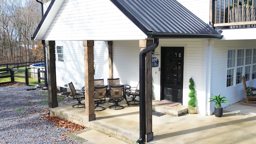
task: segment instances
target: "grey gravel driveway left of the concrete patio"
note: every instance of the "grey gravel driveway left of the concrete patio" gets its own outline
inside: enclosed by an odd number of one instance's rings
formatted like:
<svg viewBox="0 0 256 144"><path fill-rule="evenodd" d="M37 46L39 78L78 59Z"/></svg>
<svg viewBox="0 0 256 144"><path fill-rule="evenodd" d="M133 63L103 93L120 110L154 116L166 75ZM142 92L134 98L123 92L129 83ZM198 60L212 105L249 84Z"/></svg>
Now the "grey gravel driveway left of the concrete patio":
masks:
<svg viewBox="0 0 256 144"><path fill-rule="evenodd" d="M43 119L48 90L32 86L0 86L0 144L80 144L66 137L67 128L56 128ZM72 100L64 98L63 104ZM61 100L60 100L61 101Z"/></svg>

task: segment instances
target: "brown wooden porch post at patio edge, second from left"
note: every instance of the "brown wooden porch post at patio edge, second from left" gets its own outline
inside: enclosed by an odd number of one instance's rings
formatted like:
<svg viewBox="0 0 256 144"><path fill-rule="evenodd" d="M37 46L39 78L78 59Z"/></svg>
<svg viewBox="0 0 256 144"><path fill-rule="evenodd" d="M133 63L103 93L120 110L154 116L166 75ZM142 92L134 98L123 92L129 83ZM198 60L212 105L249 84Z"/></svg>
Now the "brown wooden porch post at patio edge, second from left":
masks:
<svg viewBox="0 0 256 144"><path fill-rule="evenodd" d="M84 40L84 95L85 95L85 120L95 120L94 113L94 67L93 46L94 40Z"/></svg>

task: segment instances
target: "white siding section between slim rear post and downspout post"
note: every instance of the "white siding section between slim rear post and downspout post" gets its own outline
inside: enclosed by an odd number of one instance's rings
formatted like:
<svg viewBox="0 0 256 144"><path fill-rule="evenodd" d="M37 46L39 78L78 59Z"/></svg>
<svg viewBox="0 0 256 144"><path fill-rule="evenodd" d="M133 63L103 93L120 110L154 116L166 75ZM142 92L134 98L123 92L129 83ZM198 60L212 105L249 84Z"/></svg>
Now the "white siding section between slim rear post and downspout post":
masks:
<svg viewBox="0 0 256 144"><path fill-rule="evenodd" d="M140 80L139 40L113 41L113 78L136 87Z"/></svg>

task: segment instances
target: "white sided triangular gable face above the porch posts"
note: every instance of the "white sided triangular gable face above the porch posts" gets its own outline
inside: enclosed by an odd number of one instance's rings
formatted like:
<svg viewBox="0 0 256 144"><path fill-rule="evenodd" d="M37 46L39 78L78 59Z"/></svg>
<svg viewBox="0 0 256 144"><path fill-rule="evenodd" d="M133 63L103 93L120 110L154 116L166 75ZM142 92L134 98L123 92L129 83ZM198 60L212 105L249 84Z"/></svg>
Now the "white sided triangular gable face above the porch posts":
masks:
<svg viewBox="0 0 256 144"><path fill-rule="evenodd" d="M110 0L64 0L46 40L143 40L147 36Z"/></svg>

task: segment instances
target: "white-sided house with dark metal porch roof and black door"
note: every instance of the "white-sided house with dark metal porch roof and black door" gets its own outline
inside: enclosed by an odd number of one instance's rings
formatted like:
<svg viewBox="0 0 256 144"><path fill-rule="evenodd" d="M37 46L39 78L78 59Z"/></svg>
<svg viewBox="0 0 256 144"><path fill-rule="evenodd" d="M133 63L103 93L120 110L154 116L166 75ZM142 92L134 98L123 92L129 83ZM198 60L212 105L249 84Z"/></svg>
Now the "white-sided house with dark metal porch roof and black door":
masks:
<svg viewBox="0 0 256 144"><path fill-rule="evenodd" d="M248 22L249 28L230 28L241 23L214 17L225 13L224 1L215 1L215 12L212 0L46 0L47 10L33 37L55 41L56 85L73 82L78 89L85 85L83 40L94 40L94 79L107 82L112 75L136 86L140 40L158 38L152 52L153 98L186 106L192 77L197 113L211 115L212 94L233 104L244 98L242 76L248 85L256 84L256 21Z"/></svg>

